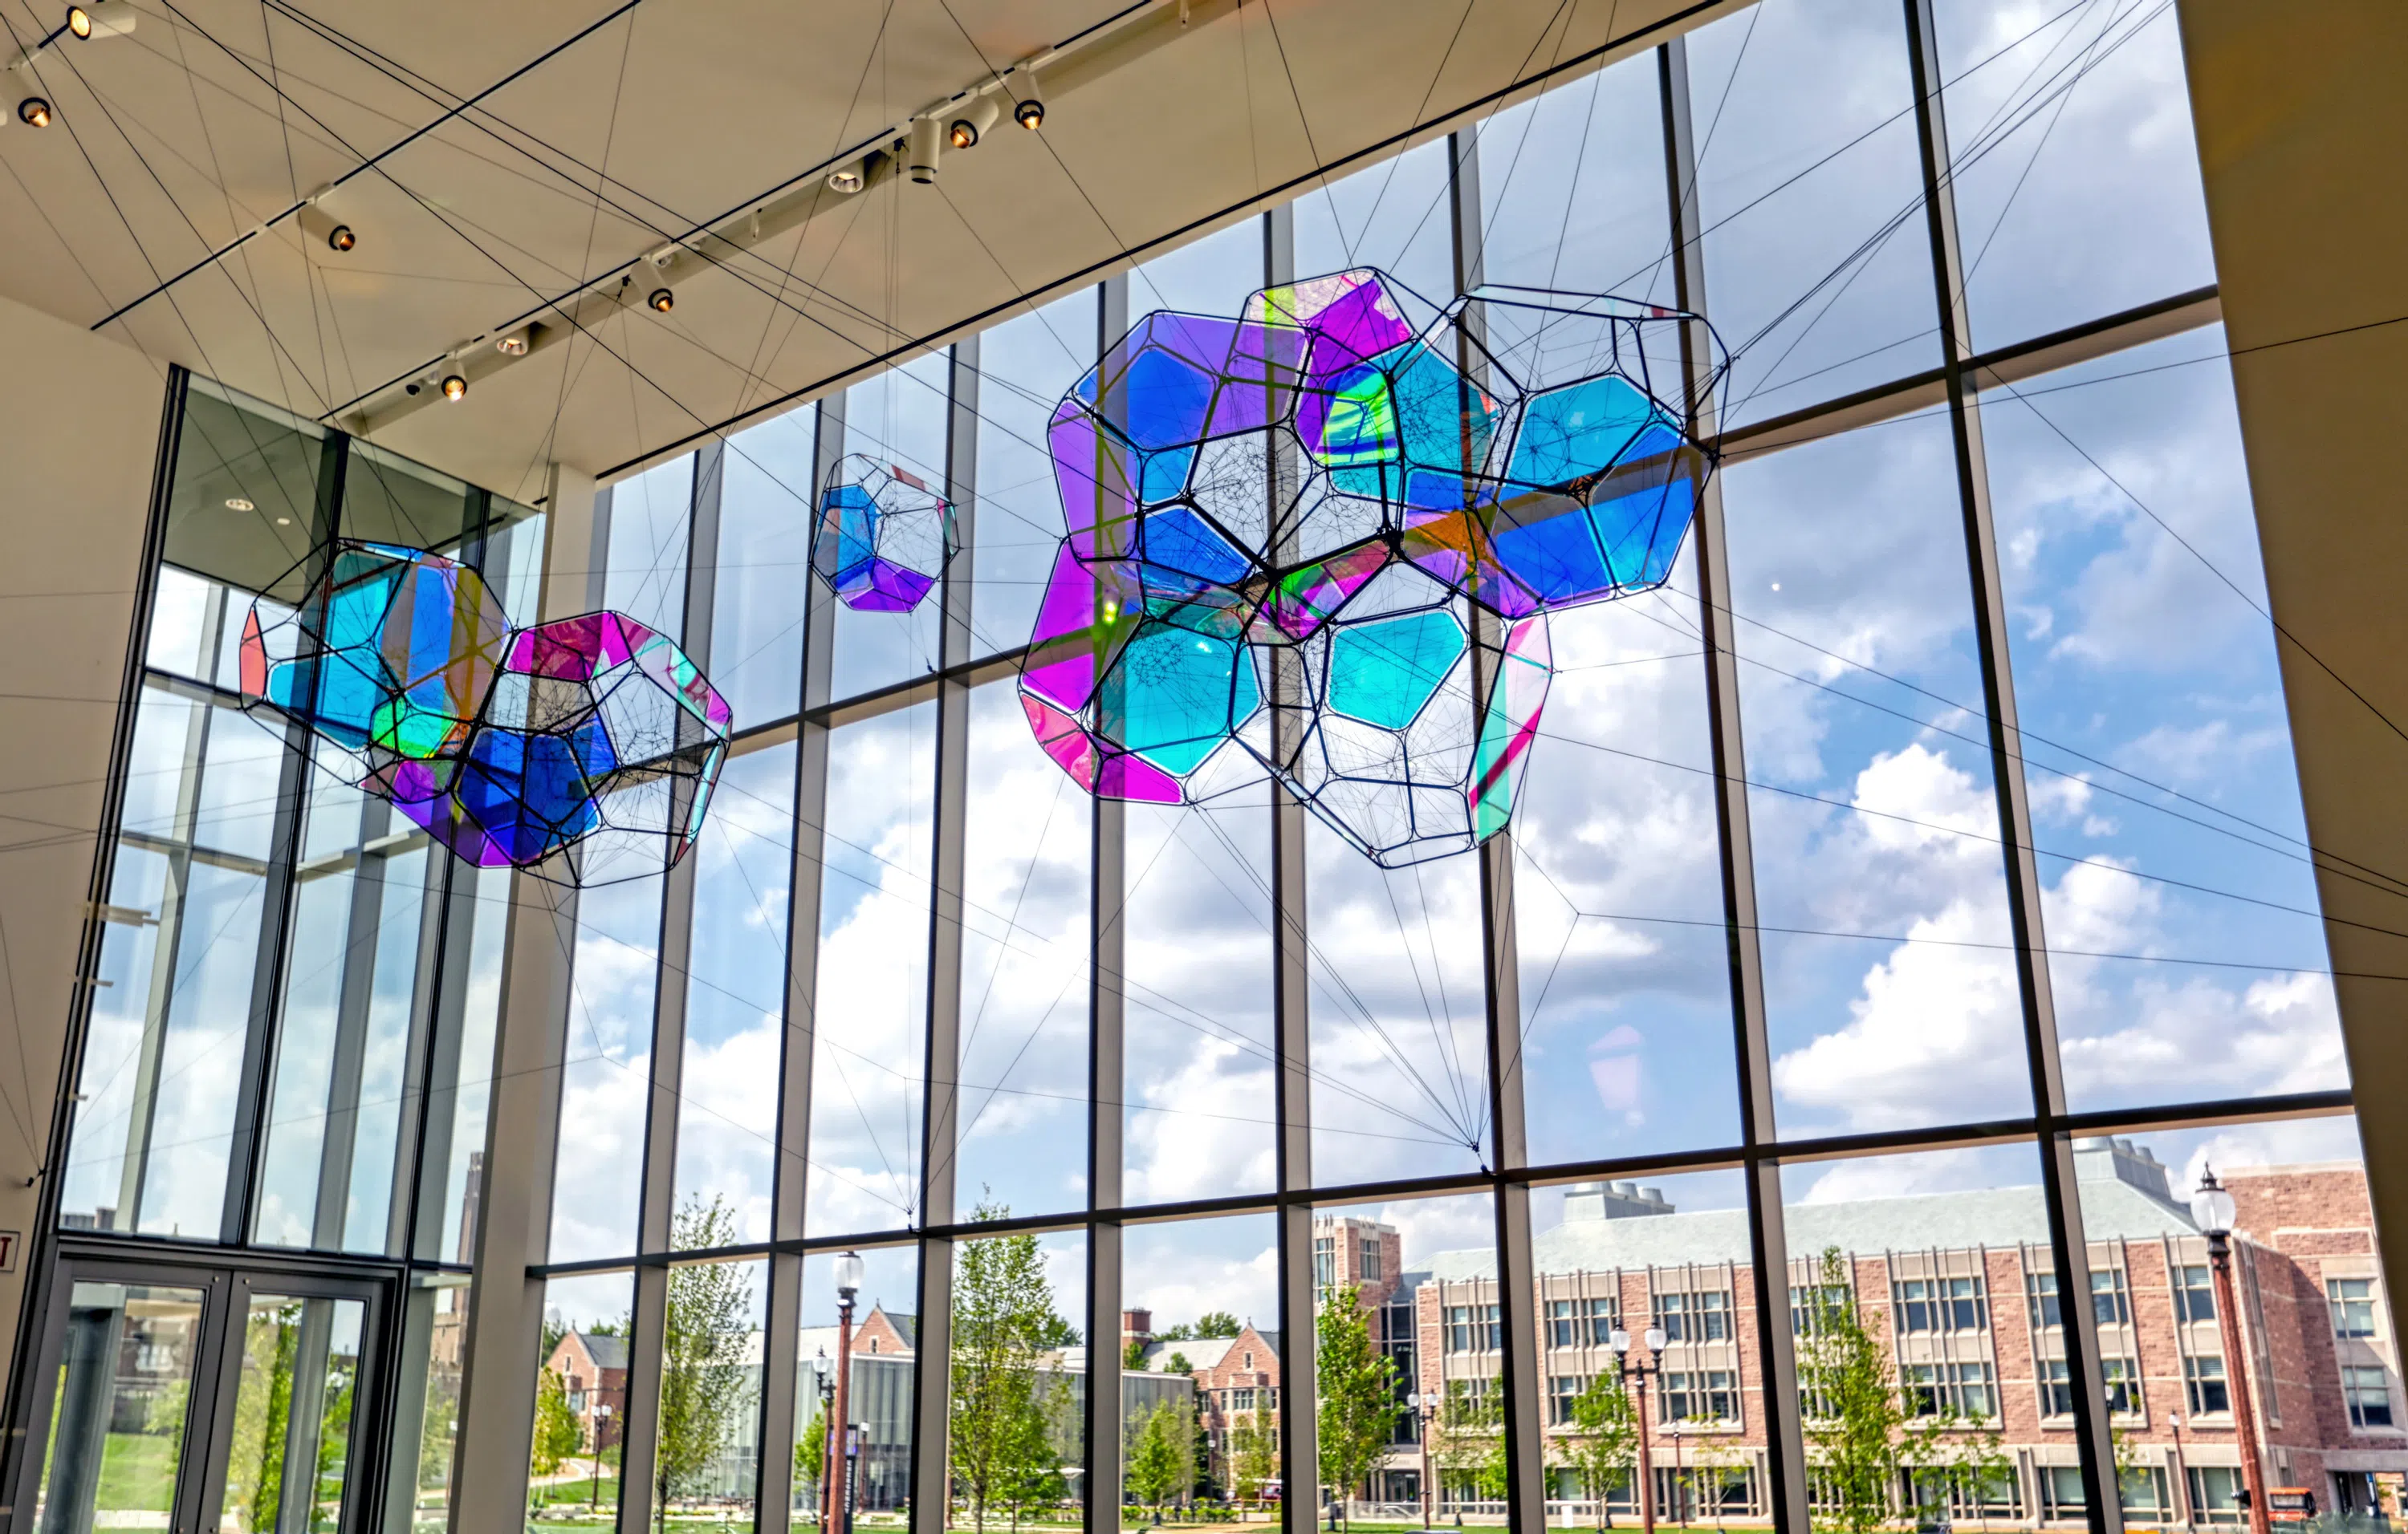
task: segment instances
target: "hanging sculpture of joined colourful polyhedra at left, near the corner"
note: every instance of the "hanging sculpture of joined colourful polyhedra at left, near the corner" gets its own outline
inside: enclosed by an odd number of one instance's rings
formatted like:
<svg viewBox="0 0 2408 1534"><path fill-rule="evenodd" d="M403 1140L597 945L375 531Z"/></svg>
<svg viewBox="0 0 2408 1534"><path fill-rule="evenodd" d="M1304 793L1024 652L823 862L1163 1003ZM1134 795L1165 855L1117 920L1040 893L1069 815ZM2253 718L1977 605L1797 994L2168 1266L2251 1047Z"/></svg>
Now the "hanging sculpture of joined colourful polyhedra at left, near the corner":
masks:
<svg viewBox="0 0 2408 1534"><path fill-rule="evenodd" d="M301 568L323 571L301 607L253 602L241 689L337 747L318 756L349 783L465 862L578 886L694 845L732 715L665 633L616 612L513 631L477 571L395 544Z"/></svg>

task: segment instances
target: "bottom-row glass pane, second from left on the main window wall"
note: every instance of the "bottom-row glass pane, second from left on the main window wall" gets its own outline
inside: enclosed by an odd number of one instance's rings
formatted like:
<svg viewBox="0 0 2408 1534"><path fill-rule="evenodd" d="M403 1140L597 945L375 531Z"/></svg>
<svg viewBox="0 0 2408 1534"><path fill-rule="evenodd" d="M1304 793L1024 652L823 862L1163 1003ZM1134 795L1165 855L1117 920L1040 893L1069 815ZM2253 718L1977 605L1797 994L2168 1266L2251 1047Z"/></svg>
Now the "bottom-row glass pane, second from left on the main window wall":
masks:
<svg viewBox="0 0 2408 1534"><path fill-rule="evenodd" d="M722 1199L689 1197L672 1247L727 1245ZM660 1349L655 1520L708 1517L751 1529L761 1447L761 1327L766 1262L686 1262L669 1269Z"/></svg>

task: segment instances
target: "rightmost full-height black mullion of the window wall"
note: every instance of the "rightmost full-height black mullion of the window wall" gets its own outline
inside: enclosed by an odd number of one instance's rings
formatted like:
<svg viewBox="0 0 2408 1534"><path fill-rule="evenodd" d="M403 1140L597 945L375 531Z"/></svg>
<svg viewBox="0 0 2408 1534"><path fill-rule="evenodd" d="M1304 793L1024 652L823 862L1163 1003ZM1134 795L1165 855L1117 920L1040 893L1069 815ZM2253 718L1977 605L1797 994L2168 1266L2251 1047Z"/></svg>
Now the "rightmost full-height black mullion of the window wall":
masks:
<svg viewBox="0 0 2408 1534"><path fill-rule="evenodd" d="M1914 142L1922 154L1924 214L1931 238L1931 284L1941 328L1941 371L1948 383L1948 431L1955 446L1958 506L1965 523L1972 583L1975 645L1982 662L1982 706L1989 713L1989 771L1999 800L1999 843L2006 865L2008 922L2015 937L2015 990L2023 1002L2023 1043L2032 1074L2032 1122L2040 1132L2040 1187L2047 1202L2049 1247L2066 1334L2066 1385L2073 1390L2083 1495L2095 1534L2124 1534L2121 1486L2100 1368L2097 1317L2088 1305L2090 1250L2083 1233L2081 1180L2073 1139L2056 1127L2066 1113L2056 1060L2056 999L2049 990L2047 927L2040 905L2040 860L2032 852L2032 802L2023 783L2023 730L2008 667L2006 595L1999 537L1989 506L1989 460L1982 409L1970 371L1972 323L1965 306L1965 255L1955 219L1955 166L1948 154L1948 113L1941 99L1938 29L1929 0L1905 0L1907 65L1914 79Z"/></svg>

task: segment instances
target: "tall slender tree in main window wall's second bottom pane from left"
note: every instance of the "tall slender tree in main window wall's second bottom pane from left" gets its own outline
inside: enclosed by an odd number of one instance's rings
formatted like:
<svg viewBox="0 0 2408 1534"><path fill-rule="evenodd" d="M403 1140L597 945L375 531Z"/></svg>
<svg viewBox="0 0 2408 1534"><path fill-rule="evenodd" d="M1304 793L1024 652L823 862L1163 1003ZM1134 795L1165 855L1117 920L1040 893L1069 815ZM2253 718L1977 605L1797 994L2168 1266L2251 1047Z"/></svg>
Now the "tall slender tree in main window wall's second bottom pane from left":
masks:
<svg viewBox="0 0 2408 1534"><path fill-rule="evenodd" d="M689 1199L672 1221L669 1247L725 1247L737 1240L734 1209L713 1194ZM744 1404L744 1334L751 1327L751 1276L734 1262L669 1269L667 1324L660 1346L660 1433L653 1450L653 1527L667 1529L669 1498L703 1491Z"/></svg>

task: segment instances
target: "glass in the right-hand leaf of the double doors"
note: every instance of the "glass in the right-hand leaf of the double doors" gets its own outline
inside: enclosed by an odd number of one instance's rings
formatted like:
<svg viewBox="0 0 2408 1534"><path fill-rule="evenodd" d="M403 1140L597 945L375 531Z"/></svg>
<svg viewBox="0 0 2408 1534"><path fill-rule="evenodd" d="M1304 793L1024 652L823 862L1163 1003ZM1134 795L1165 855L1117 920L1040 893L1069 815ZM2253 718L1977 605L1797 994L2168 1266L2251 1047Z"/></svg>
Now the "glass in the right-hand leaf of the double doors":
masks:
<svg viewBox="0 0 2408 1534"><path fill-rule="evenodd" d="M226 1442L222 1534L332 1534L349 1488L364 1300L253 1293Z"/></svg>

